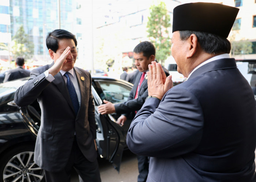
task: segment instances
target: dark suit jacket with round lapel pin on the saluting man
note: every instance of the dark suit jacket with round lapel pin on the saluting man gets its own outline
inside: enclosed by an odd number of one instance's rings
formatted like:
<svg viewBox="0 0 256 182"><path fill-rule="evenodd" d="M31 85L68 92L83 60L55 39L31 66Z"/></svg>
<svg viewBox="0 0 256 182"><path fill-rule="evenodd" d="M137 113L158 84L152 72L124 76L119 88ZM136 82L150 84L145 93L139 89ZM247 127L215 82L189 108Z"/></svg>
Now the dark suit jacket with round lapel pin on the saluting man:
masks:
<svg viewBox="0 0 256 182"><path fill-rule="evenodd" d="M42 113L34 161L42 169L54 172L66 166L75 133L78 146L89 161L96 160L97 152L90 73L74 67L81 94L76 115L61 73L55 75L51 83L45 78L44 71L52 65L32 70L28 82L16 91L14 101L18 106L27 106L38 99Z"/></svg>

